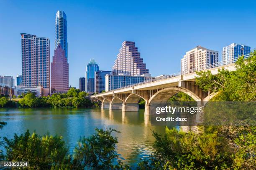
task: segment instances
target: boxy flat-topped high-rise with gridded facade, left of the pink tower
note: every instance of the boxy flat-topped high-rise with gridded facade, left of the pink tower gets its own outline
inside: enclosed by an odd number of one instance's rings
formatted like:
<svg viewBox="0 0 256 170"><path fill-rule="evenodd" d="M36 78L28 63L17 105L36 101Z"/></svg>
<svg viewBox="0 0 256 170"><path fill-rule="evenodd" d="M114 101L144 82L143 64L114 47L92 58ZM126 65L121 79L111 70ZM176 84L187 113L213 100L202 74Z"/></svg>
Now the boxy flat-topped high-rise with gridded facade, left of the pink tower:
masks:
<svg viewBox="0 0 256 170"><path fill-rule="evenodd" d="M22 86L44 87L50 94L50 40L21 33Z"/></svg>

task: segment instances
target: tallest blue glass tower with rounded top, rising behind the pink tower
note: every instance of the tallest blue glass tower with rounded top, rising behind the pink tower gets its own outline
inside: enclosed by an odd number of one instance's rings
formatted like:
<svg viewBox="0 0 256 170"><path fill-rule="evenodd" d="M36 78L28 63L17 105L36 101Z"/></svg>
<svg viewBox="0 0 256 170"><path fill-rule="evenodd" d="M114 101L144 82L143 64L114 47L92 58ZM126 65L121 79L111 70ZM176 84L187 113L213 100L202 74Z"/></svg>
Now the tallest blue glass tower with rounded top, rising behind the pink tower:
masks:
<svg viewBox="0 0 256 170"><path fill-rule="evenodd" d="M61 44L67 58L67 16L64 11L57 11L55 18L55 49Z"/></svg>

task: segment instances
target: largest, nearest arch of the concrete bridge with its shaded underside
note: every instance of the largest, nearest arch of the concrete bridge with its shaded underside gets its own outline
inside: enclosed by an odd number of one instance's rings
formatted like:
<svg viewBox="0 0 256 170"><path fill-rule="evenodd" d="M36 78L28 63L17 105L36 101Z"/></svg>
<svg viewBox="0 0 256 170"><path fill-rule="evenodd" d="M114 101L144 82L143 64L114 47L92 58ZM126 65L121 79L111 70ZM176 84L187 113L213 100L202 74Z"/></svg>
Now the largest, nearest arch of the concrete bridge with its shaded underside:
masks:
<svg viewBox="0 0 256 170"><path fill-rule="evenodd" d="M150 97L148 100L148 104L160 104L162 102L166 102L170 97L175 95L178 92L184 92L185 94L192 97L195 101L201 102L201 98L198 97L195 93L191 92L182 87L167 87L159 90L154 95Z"/></svg>

